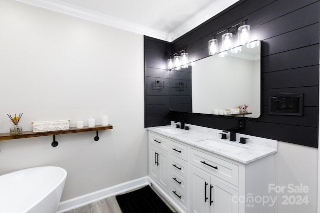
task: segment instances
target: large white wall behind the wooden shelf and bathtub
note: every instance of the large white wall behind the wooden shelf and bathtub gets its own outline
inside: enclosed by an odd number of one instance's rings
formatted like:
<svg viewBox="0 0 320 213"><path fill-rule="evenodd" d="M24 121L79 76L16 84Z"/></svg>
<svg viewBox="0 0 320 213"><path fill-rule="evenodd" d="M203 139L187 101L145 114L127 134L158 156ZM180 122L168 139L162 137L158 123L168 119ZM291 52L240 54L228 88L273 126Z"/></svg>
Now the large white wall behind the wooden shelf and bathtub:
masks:
<svg viewBox="0 0 320 213"><path fill-rule="evenodd" d="M67 171L61 201L147 176L143 124L143 36L0 1L0 132L8 114L31 121L109 115L112 130L0 142L0 175L53 165Z"/></svg>

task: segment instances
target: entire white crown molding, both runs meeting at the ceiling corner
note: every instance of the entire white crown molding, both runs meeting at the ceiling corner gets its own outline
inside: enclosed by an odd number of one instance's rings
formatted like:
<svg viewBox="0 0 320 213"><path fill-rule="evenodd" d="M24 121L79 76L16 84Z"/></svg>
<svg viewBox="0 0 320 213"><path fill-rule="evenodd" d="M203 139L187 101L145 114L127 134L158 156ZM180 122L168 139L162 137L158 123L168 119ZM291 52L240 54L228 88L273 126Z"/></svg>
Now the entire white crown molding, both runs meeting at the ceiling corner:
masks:
<svg viewBox="0 0 320 213"><path fill-rule="evenodd" d="M137 34L147 35L149 37L161 39L164 41L172 42L181 35L187 33L191 29L210 19L222 10L231 6L238 0L217 0L209 5L205 10L194 15L191 19L187 20L183 25L170 33L162 32L150 27L145 27L127 20L116 18L110 15L99 13L89 10L74 4L66 3L61 0L16 0L29 5L42 7L55 12L83 18L86 20L94 21L104 25L116 27L125 31L130 31Z"/></svg>

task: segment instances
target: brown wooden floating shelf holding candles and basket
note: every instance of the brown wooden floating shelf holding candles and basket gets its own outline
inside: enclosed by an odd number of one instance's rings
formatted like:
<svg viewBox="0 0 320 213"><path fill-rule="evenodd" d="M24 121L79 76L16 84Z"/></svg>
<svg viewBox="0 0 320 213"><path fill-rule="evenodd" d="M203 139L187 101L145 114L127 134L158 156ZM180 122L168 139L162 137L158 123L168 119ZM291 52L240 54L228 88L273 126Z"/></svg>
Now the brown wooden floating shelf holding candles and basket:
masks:
<svg viewBox="0 0 320 213"><path fill-rule="evenodd" d="M33 138L33 137L49 136L49 135L70 134L70 133L77 133L77 132L90 132L90 131L98 131L98 130L105 130L105 129L112 129L112 125L107 125L107 126L96 125L94 127L85 126L83 128L70 127L68 130L37 132L37 133L34 133L33 131L24 131L24 132L22 131L22 133L19 135L10 135L10 133L0 133L0 141L19 139L19 138Z"/></svg>

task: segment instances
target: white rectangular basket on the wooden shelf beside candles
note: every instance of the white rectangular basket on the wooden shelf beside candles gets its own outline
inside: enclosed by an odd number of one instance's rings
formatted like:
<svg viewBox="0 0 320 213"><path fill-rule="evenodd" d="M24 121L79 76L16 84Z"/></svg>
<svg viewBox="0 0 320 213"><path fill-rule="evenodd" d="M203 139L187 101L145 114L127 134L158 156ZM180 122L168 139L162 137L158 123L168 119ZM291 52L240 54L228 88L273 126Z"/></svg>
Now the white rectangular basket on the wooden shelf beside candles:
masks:
<svg viewBox="0 0 320 213"><path fill-rule="evenodd" d="M50 132L58 130L68 130L70 120L60 121L33 121L33 132Z"/></svg>

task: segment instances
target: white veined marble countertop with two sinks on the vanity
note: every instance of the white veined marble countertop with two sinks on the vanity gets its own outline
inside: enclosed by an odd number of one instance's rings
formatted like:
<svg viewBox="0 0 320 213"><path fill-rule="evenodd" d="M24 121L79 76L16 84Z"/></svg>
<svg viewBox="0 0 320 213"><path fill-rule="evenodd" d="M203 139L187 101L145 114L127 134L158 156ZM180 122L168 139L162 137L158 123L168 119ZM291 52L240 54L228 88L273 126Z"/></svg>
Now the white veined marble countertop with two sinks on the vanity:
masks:
<svg viewBox="0 0 320 213"><path fill-rule="evenodd" d="M189 130L170 126L149 127L148 131L166 136L179 142L192 145L208 152L248 164L277 152L277 141L236 133L236 141L221 139L222 130L187 125ZM246 144L238 143L240 137L248 138Z"/></svg>

